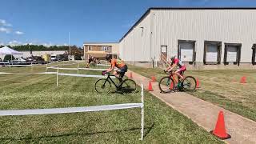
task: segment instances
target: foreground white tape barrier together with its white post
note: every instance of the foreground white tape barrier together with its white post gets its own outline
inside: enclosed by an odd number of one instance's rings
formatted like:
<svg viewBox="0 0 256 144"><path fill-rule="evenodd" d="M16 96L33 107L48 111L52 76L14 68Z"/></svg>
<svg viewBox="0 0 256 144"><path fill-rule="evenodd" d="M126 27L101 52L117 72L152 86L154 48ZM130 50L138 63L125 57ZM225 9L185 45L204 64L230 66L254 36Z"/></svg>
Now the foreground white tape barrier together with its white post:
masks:
<svg viewBox="0 0 256 144"><path fill-rule="evenodd" d="M122 110L131 108L141 108L141 138L144 136L144 86L142 86L141 103L122 103L115 105L103 106L83 106L83 107L66 107L54 109L33 109L33 110L0 110L0 116L15 116L15 115L38 115L38 114L66 114L66 113L81 113L81 112L96 112L104 110Z"/></svg>

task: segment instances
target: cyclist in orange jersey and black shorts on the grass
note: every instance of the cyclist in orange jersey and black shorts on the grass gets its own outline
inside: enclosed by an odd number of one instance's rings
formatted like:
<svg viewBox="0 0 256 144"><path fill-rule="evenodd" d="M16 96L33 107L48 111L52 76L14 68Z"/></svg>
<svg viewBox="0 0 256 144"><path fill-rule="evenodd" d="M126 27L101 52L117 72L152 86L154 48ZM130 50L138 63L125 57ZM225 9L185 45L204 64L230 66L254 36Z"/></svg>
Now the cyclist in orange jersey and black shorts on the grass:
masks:
<svg viewBox="0 0 256 144"><path fill-rule="evenodd" d="M114 67L117 67L118 70L114 71L114 76L118 78L119 82L122 82L123 76L128 70L128 66L121 59L112 58L111 54L106 55L106 61L110 62L111 66L106 72L111 72L114 70Z"/></svg>

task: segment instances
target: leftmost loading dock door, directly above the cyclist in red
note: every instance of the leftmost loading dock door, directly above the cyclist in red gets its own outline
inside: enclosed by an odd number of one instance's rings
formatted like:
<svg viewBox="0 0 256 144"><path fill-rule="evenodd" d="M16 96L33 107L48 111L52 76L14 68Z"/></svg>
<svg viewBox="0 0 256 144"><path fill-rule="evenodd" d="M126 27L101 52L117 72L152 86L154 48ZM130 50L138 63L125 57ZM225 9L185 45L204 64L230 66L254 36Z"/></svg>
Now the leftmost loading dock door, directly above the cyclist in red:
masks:
<svg viewBox="0 0 256 144"><path fill-rule="evenodd" d="M193 64L195 61L195 41L178 40L178 58L182 62Z"/></svg>

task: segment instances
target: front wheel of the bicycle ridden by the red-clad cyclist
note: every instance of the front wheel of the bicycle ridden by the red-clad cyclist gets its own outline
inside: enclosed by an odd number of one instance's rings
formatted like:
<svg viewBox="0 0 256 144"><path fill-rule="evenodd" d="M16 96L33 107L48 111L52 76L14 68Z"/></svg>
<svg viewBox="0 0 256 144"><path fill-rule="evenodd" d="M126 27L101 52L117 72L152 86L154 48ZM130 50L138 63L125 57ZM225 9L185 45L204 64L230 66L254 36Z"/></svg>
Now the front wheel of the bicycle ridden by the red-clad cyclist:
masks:
<svg viewBox="0 0 256 144"><path fill-rule="evenodd" d="M169 76L163 77L158 83L158 87L162 93L170 93L174 90L174 80Z"/></svg>

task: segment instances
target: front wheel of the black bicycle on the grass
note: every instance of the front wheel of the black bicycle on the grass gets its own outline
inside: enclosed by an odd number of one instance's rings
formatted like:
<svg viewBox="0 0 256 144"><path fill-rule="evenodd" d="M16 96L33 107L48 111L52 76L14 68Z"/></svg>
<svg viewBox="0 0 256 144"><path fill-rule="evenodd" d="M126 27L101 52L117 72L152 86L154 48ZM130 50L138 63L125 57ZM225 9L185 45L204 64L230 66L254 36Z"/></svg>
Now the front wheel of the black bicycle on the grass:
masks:
<svg viewBox="0 0 256 144"><path fill-rule="evenodd" d="M98 94L108 94L111 89L111 84L106 78L98 79L95 82L94 89Z"/></svg>

